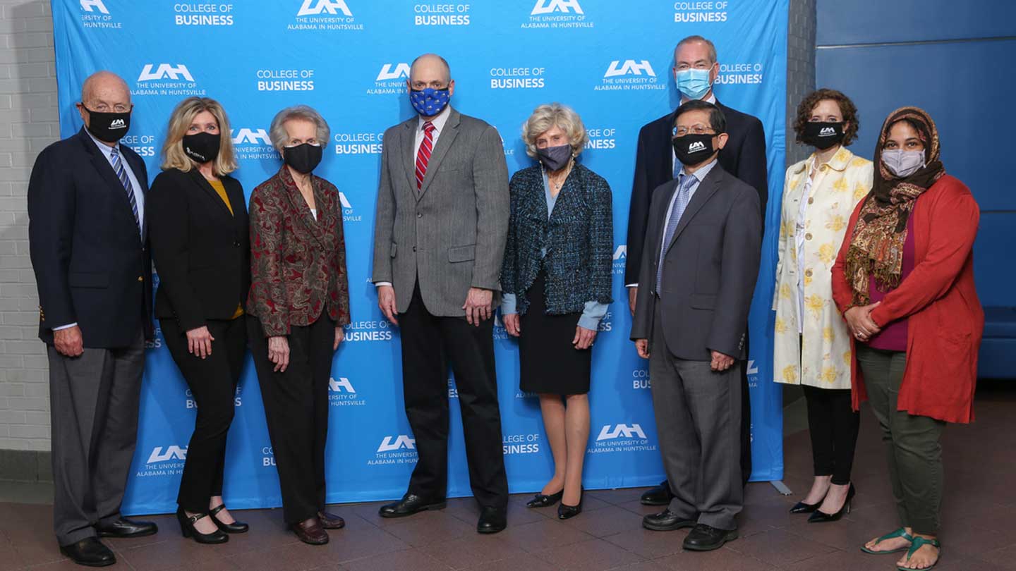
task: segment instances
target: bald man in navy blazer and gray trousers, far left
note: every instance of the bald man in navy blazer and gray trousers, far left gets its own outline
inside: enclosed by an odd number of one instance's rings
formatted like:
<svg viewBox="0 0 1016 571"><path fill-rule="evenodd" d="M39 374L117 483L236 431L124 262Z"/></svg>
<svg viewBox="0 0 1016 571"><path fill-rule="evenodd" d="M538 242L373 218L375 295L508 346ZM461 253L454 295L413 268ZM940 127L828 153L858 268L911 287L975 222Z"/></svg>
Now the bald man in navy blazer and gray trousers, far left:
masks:
<svg viewBox="0 0 1016 571"><path fill-rule="evenodd" d="M152 334L148 177L117 142L132 109L123 79L91 75L77 109L84 128L43 149L31 169L28 244L49 354L57 541L75 563L103 566L116 558L98 536L156 531L120 516Z"/></svg>

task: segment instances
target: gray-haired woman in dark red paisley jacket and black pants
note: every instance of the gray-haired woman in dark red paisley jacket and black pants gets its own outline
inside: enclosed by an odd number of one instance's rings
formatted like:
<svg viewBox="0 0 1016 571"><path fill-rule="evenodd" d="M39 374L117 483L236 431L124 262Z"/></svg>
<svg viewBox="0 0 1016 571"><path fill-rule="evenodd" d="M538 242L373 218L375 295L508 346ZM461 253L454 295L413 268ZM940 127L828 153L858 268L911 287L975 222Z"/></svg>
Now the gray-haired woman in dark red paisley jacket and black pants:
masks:
<svg viewBox="0 0 1016 571"><path fill-rule="evenodd" d="M328 542L342 518L324 511L331 361L350 323L338 190L314 176L328 142L321 115L283 109L269 136L283 165L251 194L247 330L282 492L304 543Z"/></svg>

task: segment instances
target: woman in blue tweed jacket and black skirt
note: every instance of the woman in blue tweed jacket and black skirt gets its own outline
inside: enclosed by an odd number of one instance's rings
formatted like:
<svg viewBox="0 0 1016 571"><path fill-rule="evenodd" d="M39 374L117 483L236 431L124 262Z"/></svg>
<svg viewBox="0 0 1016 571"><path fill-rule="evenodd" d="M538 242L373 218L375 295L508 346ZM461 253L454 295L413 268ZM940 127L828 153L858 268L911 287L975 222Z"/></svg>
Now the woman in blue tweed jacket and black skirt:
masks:
<svg viewBox="0 0 1016 571"><path fill-rule="evenodd" d="M539 394L554 475L528 507L558 501L558 517L582 511L589 437L592 341L611 299L611 187L576 163L587 136L560 104L537 107L522 127L538 161L512 177L502 314L519 338L520 385Z"/></svg>

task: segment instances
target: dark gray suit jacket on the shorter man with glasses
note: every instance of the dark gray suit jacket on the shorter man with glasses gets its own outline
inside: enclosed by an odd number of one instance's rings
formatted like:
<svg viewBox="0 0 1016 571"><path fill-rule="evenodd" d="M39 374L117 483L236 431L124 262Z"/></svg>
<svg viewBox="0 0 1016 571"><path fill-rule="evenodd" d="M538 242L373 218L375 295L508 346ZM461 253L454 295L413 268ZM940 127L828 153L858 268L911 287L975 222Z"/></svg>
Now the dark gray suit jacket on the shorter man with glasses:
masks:
<svg viewBox="0 0 1016 571"><path fill-rule="evenodd" d="M677 185L670 181L652 192L639 271L639 283L650 287L640 288L631 338L652 338L658 309L666 348L678 359L709 361L710 351L746 359L748 309L761 253L758 192L719 165L713 167L665 245L657 292L664 218Z"/></svg>

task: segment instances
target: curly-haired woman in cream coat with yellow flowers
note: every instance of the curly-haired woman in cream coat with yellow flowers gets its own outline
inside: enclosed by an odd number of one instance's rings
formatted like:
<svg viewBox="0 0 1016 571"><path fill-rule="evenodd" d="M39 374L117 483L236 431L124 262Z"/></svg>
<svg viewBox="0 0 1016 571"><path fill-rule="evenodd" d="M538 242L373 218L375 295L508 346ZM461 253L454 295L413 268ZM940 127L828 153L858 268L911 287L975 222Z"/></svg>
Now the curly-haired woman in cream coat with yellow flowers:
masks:
<svg viewBox="0 0 1016 571"><path fill-rule="evenodd" d="M850 333L832 300L831 268L853 206L872 188L872 162L846 146L858 110L843 93L818 89L798 106L798 141L815 147L786 170L776 269L773 371L803 385L815 480L791 513L839 519L853 497L850 468L860 421L850 407Z"/></svg>

